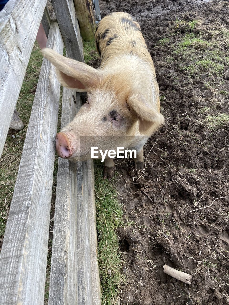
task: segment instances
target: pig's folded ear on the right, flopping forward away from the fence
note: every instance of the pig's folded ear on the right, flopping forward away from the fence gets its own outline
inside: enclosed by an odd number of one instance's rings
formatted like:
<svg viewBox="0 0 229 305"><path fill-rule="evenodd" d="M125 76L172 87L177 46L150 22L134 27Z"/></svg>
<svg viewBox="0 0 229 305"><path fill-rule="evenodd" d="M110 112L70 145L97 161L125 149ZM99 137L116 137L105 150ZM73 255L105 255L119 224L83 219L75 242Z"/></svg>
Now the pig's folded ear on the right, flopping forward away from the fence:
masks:
<svg viewBox="0 0 229 305"><path fill-rule="evenodd" d="M161 113L152 109L144 103L139 97L132 96L127 100L127 104L131 111L138 117L140 133L146 133L148 129L155 124L155 129L158 129L164 124L164 117Z"/></svg>

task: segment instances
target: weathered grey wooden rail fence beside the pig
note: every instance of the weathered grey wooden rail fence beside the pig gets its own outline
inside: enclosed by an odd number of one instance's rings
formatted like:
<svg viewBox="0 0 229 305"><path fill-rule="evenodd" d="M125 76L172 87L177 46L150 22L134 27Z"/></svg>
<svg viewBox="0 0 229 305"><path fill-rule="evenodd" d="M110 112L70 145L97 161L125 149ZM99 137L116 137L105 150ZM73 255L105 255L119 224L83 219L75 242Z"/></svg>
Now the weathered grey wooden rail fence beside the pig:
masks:
<svg viewBox="0 0 229 305"><path fill-rule="evenodd" d="M65 45L67 56L84 61L74 2L52 0L50 20L46 1L11 0L0 12L0 155L41 20L48 48L63 54ZM43 59L0 253L4 305L44 303L59 99L54 67ZM61 127L80 105L64 88ZM93 179L91 161L59 158L49 304L101 304Z"/></svg>

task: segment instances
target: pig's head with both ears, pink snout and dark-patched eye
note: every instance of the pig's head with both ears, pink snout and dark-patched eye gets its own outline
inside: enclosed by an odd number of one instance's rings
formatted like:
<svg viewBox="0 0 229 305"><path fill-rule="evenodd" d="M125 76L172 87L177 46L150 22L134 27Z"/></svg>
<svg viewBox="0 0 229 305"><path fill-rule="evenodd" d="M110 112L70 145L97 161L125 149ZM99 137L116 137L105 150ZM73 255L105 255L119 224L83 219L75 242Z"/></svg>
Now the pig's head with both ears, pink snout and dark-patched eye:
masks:
<svg viewBox="0 0 229 305"><path fill-rule="evenodd" d="M95 69L51 49L42 52L56 67L64 87L88 95L72 122L56 135L60 157L87 160L93 146L102 150L127 147L131 142L127 138L147 135L153 124L163 124L163 116L141 100L128 70Z"/></svg>

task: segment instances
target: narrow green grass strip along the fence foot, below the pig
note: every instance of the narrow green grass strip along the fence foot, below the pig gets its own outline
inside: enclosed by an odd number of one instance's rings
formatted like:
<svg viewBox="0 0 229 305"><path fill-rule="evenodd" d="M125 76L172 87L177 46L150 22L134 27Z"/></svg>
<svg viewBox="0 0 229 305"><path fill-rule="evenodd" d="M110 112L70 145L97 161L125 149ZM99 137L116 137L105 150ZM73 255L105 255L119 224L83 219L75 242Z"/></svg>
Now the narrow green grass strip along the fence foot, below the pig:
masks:
<svg viewBox="0 0 229 305"><path fill-rule="evenodd" d="M114 179L111 182L103 180L103 163L94 162L94 168L101 299L103 305L109 305L114 304L119 285L125 280L121 274L122 260L116 235L117 228L124 226L123 212L117 200Z"/></svg>

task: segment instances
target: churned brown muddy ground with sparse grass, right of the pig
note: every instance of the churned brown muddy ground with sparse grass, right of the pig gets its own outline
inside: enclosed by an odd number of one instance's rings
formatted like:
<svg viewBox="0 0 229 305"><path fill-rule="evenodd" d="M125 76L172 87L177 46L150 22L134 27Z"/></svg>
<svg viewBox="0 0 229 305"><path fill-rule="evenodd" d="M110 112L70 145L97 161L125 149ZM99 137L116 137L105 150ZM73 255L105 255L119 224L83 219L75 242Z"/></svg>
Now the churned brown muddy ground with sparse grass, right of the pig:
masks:
<svg viewBox="0 0 229 305"><path fill-rule="evenodd" d="M229 199L216 198L229 196L229 3L115 0L100 9L140 23L166 122L145 146L139 180L116 163L127 223L118 231L121 304L227 304ZM191 285L164 264L191 274Z"/></svg>

